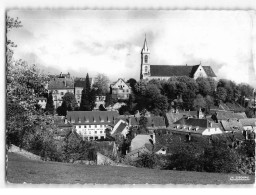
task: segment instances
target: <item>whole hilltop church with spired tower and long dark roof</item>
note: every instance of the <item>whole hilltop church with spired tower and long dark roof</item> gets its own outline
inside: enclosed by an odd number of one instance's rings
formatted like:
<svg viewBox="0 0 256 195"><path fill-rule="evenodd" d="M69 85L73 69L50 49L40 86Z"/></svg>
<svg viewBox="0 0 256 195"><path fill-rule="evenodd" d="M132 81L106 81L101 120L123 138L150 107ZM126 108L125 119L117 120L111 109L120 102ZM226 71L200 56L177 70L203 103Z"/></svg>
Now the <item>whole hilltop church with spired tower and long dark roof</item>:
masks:
<svg viewBox="0 0 256 195"><path fill-rule="evenodd" d="M158 79L164 80L170 77L188 76L194 79L198 77L211 77L216 79L217 76L210 66L197 65L151 65L150 50L145 38L141 51L141 72L140 79Z"/></svg>

